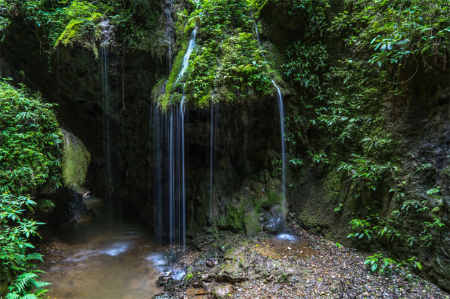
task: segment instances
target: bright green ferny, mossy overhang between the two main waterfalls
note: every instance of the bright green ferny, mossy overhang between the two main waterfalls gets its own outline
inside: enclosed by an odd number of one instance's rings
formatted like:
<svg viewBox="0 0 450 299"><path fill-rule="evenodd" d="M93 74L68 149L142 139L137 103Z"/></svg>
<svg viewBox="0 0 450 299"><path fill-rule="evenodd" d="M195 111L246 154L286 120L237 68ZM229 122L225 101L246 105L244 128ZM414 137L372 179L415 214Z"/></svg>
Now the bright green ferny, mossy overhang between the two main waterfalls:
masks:
<svg viewBox="0 0 450 299"><path fill-rule="evenodd" d="M183 41L165 94L156 97L163 110L177 104L183 91L185 101L197 108L213 102L250 102L273 94L272 71L256 41L250 8L244 0L203 0L190 19L181 16L192 30L197 26L198 46L190 55L186 75L178 79L187 48ZM183 32L183 39L189 34Z"/></svg>

